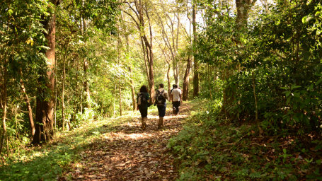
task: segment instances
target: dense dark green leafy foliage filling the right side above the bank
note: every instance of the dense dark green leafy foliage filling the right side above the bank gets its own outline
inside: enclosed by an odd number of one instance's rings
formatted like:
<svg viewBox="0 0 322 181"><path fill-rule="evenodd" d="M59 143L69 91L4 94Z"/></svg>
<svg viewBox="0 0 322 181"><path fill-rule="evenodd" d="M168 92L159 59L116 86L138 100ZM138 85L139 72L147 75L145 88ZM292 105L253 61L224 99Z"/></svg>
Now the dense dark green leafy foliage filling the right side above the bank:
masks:
<svg viewBox="0 0 322 181"><path fill-rule="evenodd" d="M258 11L246 29L236 28L236 17L219 15L219 5L203 5L209 7L207 26L199 35L197 57L219 67L214 72L224 82L226 115L243 122L254 120L258 112L269 135L320 134L321 2L279 2ZM202 72L209 87L209 72Z"/></svg>

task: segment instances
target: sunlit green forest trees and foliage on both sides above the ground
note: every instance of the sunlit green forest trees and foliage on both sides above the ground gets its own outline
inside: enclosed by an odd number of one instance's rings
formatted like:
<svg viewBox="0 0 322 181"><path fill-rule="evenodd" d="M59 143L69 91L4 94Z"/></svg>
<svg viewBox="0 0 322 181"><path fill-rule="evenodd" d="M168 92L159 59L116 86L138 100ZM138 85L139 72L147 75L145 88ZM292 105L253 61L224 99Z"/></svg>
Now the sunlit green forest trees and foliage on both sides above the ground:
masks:
<svg viewBox="0 0 322 181"><path fill-rule="evenodd" d="M4 1L1 156L136 110L159 83L219 103L216 119L321 139L321 20L319 0Z"/></svg>

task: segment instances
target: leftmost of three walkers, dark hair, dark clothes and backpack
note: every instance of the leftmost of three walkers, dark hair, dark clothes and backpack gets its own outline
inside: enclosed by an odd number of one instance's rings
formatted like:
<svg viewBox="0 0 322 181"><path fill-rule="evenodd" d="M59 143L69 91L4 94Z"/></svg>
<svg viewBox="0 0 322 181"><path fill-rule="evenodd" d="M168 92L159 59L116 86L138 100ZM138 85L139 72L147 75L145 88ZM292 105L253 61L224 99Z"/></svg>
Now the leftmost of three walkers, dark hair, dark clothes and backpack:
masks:
<svg viewBox="0 0 322 181"><path fill-rule="evenodd" d="M146 121L148 119L148 107L149 107L149 99L150 95L148 93L148 88L146 86L142 86L139 89L139 93L137 94L137 110L141 113L141 122L142 129L146 129Z"/></svg>

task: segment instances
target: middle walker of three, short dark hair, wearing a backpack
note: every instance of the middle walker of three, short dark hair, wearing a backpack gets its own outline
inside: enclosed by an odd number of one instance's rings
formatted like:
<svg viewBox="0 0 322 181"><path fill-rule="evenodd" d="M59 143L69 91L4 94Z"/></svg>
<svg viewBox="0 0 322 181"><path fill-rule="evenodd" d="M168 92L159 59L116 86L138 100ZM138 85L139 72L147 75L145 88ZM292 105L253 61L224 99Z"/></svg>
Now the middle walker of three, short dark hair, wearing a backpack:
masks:
<svg viewBox="0 0 322 181"><path fill-rule="evenodd" d="M163 117L166 115L166 100L169 100L168 92L164 90L163 83L159 84L159 89L156 90L154 100L156 100L154 105L158 107L159 111L158 129L160 129L163 127Z"/></svg>

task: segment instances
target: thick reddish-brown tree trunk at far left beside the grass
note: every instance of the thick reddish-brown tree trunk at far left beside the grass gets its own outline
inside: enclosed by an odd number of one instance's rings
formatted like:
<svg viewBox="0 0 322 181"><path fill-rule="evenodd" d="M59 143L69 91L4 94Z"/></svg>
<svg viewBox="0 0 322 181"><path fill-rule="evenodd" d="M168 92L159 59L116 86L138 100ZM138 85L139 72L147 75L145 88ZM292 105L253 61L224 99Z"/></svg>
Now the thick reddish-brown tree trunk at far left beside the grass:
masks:
<svg viewBox="0 0 322 181"><path fill-rule="evenodd" d="M57 2L54 1L54 4ZM54 131L54 48L55 48L55 33L56 33L56 16L52 14L45 21L47 34L45 35L48 41L48 49L45 52L47 57L47 78L40 78L40 87L38 88L36 119L35 119L35 136L33 136L32 144L40 144L42 141L50 141ZM46 85L46 89L41 85ZM45 98L45 95L48 95Z"/></svg>

